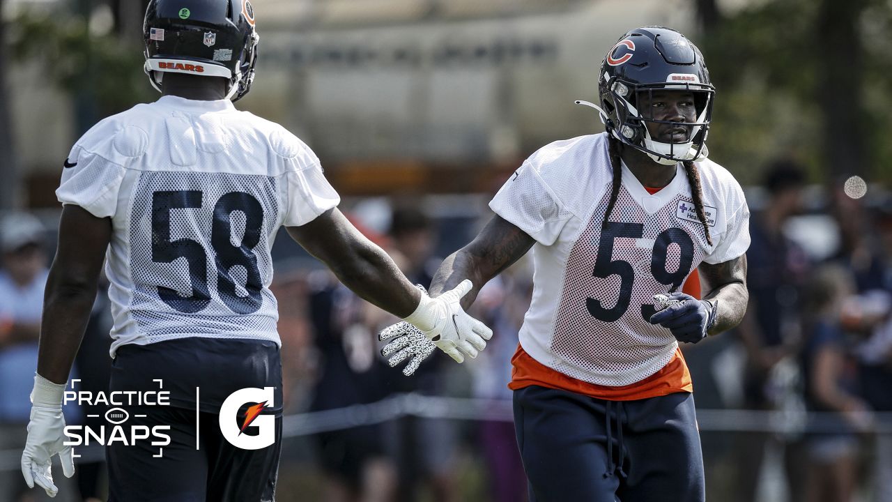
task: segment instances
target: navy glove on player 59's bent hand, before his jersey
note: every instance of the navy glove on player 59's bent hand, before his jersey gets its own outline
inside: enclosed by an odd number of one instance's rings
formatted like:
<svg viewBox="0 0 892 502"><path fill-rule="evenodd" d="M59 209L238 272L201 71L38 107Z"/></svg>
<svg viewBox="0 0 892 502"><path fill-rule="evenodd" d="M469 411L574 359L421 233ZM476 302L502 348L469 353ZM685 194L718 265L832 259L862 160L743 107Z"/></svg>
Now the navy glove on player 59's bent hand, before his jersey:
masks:
<svg viewBox="0 0 892 502"><path fill-rule="evenodd" d="M715 305L688 294L675 292L668 297L654 297L657 305L665 308L650 316L651 324L659 324L672 331L678 341L697 343L705 339L715 323Z"/></svg>

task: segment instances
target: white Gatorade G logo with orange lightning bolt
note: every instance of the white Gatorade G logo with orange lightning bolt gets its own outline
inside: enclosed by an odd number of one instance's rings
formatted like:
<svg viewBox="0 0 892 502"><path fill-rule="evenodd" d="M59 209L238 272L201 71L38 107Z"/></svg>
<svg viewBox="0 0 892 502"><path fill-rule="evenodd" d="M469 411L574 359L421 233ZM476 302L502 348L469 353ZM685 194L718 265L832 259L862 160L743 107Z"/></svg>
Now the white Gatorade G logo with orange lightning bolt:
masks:
<svg viewBox="0 0 892 502"><path fill-rule="evenodd" d="M220 432L233 446L242 449L267 448L276 442L276 417L271 414L260 414L273 403L272 387L236 390L220 406ZM247 403L258 403L249 406L244 419L238 417L238 410ZM244 434L248 426L260 427L260 434L251 436Z"/></svg>

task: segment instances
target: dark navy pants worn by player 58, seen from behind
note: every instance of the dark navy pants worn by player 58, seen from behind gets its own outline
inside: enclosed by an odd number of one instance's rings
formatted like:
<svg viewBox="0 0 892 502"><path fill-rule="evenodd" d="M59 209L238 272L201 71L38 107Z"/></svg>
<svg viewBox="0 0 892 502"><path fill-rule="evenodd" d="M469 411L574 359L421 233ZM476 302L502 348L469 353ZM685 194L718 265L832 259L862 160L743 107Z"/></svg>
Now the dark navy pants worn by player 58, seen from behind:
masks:
<svg viewBox="0 0 892 502"><path fill-rule="evenodd" d="M250 339L174 339L118 349L111 390L170 391L170 406L124 406L126 425L169 425L169 446L148 440L106 447L110 502L270 502L282 446L282 365L275 342ZM196 414L195 388L201 389ZM237 448L219 429L219 407L235 390L273 387L276 442ZM232 417L244 421L240 413ZM145 416L137 416L145 415ZM251 427L245 433L251 434ZM197 434L197 438L196 438ZM196 442L199 449L196 449Z"/></svg>

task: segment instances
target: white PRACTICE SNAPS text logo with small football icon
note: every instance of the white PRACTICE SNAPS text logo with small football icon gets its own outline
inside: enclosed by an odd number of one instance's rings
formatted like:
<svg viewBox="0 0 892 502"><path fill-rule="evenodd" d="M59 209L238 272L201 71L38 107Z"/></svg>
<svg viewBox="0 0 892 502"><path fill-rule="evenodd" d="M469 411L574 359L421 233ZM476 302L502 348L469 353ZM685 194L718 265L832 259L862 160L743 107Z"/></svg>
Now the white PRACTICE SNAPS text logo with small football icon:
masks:
<svg viewBox="0 0 892 502"><path fill-rule="evenodd" d="M131 418L145 418L145 414L131 414L125 409L128 406L170 406L170 391L164 390L164 382L156 379L158 390L115 390L112 392L91 392L89 390L73 390L80 380L71 381L71 389L66 390L63 398L65 405L77 403L78 406L108 407L104 414L87 414L87 418L103 417L101 425L66 425L65 436L67 447L87 447L90 445L134 446L136 441L151 441L158 447L154 457L164 455L164 447L170 444L169 425L128 424ZM78 456L76 453L74 456Z"/></svg>

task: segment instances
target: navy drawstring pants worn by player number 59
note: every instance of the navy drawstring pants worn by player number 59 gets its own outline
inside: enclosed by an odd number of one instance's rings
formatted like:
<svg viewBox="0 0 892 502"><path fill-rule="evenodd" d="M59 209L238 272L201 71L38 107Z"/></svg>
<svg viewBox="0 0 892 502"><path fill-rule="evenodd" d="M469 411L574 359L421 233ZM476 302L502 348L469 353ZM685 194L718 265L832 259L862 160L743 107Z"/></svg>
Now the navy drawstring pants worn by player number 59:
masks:
<svg viewBox="0 0 892 502"><path fill-rule="evenodd" d="M530 502L702 502L703 455L689 393L606 401L514 392Z"/></svg>

